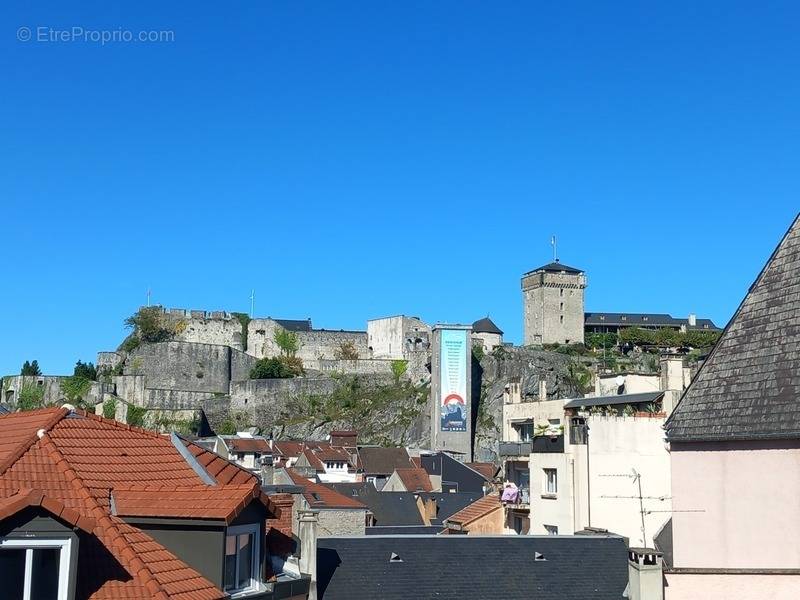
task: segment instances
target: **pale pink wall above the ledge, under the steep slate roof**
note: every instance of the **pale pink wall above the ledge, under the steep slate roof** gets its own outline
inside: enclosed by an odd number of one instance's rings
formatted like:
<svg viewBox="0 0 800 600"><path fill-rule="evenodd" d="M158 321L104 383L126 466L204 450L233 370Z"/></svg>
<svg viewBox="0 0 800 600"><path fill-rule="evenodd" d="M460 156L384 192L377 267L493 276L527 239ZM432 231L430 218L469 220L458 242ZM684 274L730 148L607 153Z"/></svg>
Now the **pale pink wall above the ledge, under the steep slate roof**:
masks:
<svg viewBox="0 0 800 600"><path fill-rule="evenodd" d="M675 567L800 569L800 441L673 443L671 458Z"/></svg>

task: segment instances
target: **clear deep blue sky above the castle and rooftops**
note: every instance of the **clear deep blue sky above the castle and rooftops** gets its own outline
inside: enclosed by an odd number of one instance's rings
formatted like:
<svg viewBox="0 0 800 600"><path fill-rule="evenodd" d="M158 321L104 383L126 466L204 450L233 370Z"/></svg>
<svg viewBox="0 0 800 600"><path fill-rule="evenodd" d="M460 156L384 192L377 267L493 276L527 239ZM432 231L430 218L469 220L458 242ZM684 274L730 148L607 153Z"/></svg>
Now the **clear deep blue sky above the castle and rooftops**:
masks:
<svg viewBox="0 0 800 600"><path fill-rule="evenodd" d="M724 325L800 209L800 8L602 4L3 3L0 372L115 348L148 287L518 342L552 234L587 310Z"/></svg>

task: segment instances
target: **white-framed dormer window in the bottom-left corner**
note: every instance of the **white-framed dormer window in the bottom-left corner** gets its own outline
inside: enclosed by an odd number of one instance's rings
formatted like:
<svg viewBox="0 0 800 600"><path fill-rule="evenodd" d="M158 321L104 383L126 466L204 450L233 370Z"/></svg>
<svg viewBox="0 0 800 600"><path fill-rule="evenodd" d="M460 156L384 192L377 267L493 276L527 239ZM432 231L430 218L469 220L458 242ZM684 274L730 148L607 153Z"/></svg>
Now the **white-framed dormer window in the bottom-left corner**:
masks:
<svg viewBox="0 0 800 600"><path fill-rule="evenodd" d="M0 539L3 597L67 600L71 545L68 539Z"/></svg>

